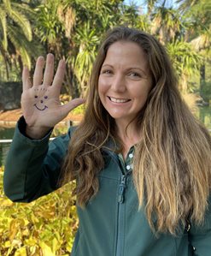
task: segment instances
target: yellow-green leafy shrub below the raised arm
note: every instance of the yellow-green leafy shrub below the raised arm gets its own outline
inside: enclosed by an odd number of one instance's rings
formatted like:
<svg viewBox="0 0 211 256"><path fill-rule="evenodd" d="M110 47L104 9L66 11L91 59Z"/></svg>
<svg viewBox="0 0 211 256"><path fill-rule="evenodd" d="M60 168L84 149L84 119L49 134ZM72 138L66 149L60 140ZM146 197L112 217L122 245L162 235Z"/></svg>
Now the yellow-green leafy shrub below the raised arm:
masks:
<svg viewBox="0 0 211 256"><path fill-rule="evenodd" d="M13 203L3 195L0 168L0 255L65 256L78 229L74 183L30 204Z"/></svg>

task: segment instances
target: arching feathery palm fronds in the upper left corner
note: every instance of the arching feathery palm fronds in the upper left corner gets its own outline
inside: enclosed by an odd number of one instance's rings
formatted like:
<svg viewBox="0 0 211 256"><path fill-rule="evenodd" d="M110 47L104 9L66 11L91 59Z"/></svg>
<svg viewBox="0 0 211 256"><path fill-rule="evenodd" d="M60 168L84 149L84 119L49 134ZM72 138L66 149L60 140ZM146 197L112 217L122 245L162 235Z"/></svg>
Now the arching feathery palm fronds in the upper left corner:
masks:
<svg viewBox="0 0 211 256"><path fill-rule="evenodd" d="M27 13L32 13L25 3L3 0L0 2L0 55L9 78L9 68L16 63L31 67L32 27Z"/></svg>

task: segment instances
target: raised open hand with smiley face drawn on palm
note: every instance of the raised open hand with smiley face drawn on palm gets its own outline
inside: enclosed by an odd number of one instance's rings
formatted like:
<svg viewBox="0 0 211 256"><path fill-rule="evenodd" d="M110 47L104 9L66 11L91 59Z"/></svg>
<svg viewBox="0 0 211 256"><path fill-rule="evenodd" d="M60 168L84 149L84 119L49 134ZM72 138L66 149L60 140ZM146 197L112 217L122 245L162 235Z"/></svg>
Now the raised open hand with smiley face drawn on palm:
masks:
<svg viewBox="0 0 211 256"><path fill-rule="evenodd" d="M60 91L65 74L65 62L60 61L54 76L54 56L48 54L44 70L44 57L38 57L33 80L30 80L28 68L23 69L23 93L21 107L26 120L26 134L39 139L61 122L70 110L85 102L74 98L67 104L61 104Z"/></svg>

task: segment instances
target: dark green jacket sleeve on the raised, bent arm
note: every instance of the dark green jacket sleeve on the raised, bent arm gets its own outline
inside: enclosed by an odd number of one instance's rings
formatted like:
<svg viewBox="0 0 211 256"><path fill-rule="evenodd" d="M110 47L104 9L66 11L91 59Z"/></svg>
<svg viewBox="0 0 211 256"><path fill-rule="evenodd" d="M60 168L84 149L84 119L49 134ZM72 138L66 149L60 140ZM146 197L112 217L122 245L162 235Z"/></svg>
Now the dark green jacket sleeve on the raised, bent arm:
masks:
<svg viewBox="0 0 211 256"><path fill-rule="evenodd" d="M26 122L23 117L15 128L13 142L6 158L3 188L14 202L31 202L58 188L62 161L67 153L70 133L50 140L32 140L24 135Z"/></svg>

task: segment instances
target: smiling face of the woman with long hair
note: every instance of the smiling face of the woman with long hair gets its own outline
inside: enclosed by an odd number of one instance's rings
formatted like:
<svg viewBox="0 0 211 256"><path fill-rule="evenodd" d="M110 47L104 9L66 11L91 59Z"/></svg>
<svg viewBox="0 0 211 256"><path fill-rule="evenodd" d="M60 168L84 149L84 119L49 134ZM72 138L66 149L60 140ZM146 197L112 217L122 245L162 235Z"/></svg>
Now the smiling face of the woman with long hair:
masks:
<svg viewBox="0 0 211 256"><path fill-rule="evenodd" d="M147 57L133 42L110 45L103 62L98 93L115 122L129 123L144 107L151 88Z"/></svg>

